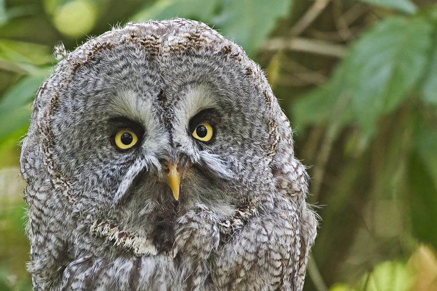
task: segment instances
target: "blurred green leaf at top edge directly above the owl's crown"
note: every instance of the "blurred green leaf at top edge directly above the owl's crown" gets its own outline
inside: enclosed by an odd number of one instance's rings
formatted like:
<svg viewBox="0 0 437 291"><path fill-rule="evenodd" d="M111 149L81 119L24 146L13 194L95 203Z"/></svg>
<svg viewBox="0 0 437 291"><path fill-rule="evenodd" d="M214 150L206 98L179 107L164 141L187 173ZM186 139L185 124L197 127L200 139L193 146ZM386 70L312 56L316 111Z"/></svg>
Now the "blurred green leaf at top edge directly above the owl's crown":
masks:
<svg viewBox="0 0 437 291"><path fill-rule="evenodd" d="M134 21L145 21L184 17L208 22L216 6L216 0L158 0L153 5L140 10L132 18Z"/></svg>

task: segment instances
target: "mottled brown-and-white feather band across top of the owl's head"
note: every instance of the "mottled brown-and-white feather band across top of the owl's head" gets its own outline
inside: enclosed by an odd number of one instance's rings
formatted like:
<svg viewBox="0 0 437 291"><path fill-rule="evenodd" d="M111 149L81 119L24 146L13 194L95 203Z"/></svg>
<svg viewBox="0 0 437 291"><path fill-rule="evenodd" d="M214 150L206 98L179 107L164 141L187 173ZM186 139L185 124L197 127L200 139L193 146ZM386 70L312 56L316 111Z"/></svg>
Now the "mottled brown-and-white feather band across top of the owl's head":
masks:
<svg viewBox="0 0 437 291"><path fill-rule="evenodd" d="M255 101L253 99L255 98L258 99L259 104L264 103L265 111L263 111L267 119L277 118L278 111L282 113L264 73L258 64L249 59L241 46L227 40L204 23L184 18L143 23L131 22L123 28L113 28L111 31L91 38L72 52L67 53L65 49L58 48L56 53L61 60L49 80L41 86L34 103L35 109L38 111L44 108L42 111L47 111L48 107L56 106L54 104L57 103L57 96L63 98L64 95L63 86L57 86L57 84L69 83L75 79L82 67L102 57L108 55L112 57L114 54L108 54L108 52L126 46L138 48L136 53L131 54L130 57L146 57L161 67L171 64L172 62L169 63L168 60L178 59L178 55L197 55L200 56L198 59L208 56L208 60L212 58L219 62L219 66L223 64L225 68L226 64L226 67L231 68L233 72L239 72L238 77L234 75L232 79L234 83L240 81L247 84L241 87L257 88L258 98L261 99L251 96L252 101ZM174 69L170 68L170 71ZM168 72L166 71L165 74ZM47 113L51 114L46 112L44 115L46 116Z"/></svg>

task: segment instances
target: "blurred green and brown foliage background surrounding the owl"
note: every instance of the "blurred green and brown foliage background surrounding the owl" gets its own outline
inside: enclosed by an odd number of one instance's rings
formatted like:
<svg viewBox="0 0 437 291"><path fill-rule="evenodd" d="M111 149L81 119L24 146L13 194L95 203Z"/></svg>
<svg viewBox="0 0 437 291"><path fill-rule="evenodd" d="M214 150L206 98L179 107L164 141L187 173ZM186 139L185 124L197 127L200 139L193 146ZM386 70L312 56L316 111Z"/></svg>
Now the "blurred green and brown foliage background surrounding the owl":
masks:
<svg viewBox="0 0 437 291"><path fill-rule="evenodd" d="M19 141L69 50L188 17L259 62L322 220L305 291L437 290L437 4L429 0L0 0L0 291L31 290Z"/></svg>

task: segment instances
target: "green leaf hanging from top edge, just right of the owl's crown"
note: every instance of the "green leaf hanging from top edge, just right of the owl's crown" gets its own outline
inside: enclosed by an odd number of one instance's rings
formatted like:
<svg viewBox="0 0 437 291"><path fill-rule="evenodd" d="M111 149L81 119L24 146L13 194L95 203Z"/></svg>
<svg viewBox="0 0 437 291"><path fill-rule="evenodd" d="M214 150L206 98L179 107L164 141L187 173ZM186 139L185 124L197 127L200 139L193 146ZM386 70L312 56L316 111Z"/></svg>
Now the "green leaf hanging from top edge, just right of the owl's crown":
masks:
<svg viewBox="0 0 437 291"><path fill-rule="evenodd" d="M279 18L288 15L292 0L224 0L220 15L212 23L221 33L253 54L275 28Z"/></svg>

